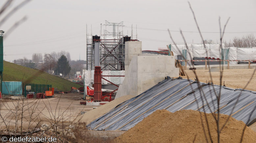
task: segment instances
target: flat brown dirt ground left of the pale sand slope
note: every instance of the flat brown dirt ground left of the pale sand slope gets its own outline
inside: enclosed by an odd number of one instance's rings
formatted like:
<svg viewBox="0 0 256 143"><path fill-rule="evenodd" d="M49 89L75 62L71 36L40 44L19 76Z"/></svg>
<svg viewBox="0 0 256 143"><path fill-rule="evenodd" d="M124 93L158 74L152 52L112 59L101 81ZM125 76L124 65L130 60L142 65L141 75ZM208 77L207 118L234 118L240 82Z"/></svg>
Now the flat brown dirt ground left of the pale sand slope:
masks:
<svg viewBox="0 0 256 143"><path fill-rule="evenodd" d="M0 129L15 126L32 129L37 124L52 123L53 120L69 122L81 118L81 111L90 111L95 106L80 105L83 95L56 94L55 98L0 101ZM23 108L22 108L23 107ZM23 110L23 114L22 113ZM22 118L23 117L23 118Z"/></svg>

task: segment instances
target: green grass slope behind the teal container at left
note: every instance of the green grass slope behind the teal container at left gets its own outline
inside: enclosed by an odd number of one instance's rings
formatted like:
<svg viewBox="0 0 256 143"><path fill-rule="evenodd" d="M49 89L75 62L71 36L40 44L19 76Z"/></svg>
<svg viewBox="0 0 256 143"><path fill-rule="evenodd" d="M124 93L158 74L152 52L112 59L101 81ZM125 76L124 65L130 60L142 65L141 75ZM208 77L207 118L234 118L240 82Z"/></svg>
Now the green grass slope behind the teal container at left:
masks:
<svg viewBox="0 0 256 143"><path fill-rule="evenodd" d="M23 81L23 83L51 84L52 87L55 87L61 91L70 91L71 87L80 87L78 84L63 78L6 61L4 61L3 81Z"/></svg>

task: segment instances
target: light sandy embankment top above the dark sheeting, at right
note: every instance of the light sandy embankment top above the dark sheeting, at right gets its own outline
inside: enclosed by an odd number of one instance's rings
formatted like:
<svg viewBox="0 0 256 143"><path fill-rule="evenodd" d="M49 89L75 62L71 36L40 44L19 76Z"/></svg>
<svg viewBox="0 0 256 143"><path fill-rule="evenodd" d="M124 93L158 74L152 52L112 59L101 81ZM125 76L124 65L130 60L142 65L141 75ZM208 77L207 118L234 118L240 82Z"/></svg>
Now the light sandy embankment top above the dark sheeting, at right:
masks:
<svg viewBox="0 0 256 143"><path fill-rule="evenodd" d="M223 72L223 81L225 81L225 85L230 88L244 88L246 83L250 80L254 69L225 69ZM186 75L189 76L189 79L194 80L195 75L192 70L185 70ZM211 80L209 70L195 70L199 81L201 82L209 82ZM220 73L219 72L211 72L214 84L220 85L219 78ZM182 76L182 78L187 79L187 76ZM252 80L248 84L248 86L245 88L247 90L253 90L256 91L256 73L254 74Z"/></svg>

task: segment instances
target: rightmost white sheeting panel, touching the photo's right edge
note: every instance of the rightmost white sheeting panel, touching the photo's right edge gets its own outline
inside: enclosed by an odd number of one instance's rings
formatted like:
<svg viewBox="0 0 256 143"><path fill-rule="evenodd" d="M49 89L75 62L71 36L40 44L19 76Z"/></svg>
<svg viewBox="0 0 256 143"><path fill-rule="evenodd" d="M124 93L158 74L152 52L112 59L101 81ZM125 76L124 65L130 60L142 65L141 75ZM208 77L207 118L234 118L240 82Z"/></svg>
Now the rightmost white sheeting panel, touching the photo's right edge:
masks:
<svg viewBox="0 0 256 143"><path fill-rule="evenodd" d="M237 48L237 60L255 60L256 48Z"/></svg>

